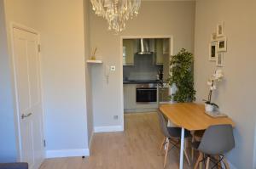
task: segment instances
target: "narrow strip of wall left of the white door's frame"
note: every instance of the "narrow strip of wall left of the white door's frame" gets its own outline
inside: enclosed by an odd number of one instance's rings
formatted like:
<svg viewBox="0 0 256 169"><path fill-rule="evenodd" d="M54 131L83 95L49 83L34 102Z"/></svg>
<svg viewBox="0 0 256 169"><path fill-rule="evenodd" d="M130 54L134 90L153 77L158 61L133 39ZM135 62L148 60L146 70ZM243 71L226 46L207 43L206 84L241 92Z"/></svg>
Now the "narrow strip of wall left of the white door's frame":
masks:
<svg viewBox="0 0 256 169"><path fill-rule="evenodd" d="M0 163L16 161L12 71L8 54L3 0L0 0Z"/></svg>

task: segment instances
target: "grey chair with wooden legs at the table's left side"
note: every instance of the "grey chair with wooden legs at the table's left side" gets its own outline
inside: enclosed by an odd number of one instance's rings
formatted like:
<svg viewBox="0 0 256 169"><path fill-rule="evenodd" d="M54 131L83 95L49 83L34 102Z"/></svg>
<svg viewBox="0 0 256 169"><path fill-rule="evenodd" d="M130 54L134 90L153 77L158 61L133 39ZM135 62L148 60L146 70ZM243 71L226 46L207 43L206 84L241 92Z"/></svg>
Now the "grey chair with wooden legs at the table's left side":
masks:
<svg viewBox="0 0 256 169"><path fill-rule="evenodd" d="M177 144L178 144L178 142L177 143L173 143L171 138L180 139L181 138L181 128L180 127L167 127L167 120L164 117L164 115L162 113L160 113L160 112L158 112L157 114L158 114L159 121L160 121L161 132L165 136L162 144L160 145L160 150L162 150L163 147L166 148L165 149L165 161L164 161L164 168L165 168L166 167L166 159L167 159L167 155L168 155L170 144L172 144L172 148L177 147ZM185 138L191 137L190 132L185 130L184 137ZM190 165L189 156L188 156L188 154L186 152L186 149L184 149L184 155L186 156L186 159L187 159L187 161L188 161L188 163Z"/></svg>

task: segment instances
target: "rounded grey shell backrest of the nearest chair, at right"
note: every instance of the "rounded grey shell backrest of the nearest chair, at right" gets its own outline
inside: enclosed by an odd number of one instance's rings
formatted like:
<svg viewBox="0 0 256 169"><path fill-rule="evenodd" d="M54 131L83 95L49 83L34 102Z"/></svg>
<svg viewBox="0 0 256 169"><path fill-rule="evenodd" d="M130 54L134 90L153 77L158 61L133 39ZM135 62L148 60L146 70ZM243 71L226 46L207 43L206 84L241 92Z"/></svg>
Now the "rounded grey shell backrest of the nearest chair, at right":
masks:
<svg viewBox="0 0 256 169"><path fill-rule="evenodd" d="M235 147L233 127L216 125L208 127L198 149L207 155L223 155Z"/></svg>

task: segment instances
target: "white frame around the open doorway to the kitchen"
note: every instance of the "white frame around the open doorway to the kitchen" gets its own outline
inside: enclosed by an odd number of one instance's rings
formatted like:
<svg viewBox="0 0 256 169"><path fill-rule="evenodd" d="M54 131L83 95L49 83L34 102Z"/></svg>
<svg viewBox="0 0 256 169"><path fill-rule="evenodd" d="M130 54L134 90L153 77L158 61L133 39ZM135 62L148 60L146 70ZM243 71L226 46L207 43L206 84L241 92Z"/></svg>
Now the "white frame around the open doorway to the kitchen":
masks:
<svg viewBox="0 0 256 169"><path fill-rule="evenodd" d="M120 49L119 49L119 56L123 56L123 40L124 39L140 39L140 38L151 38L151 39L170 39L170 44L169 44L169 53L170 56L173 55L173 36L172 35L160 35L160 36L120 36ZM125 130L125 113L124 113L124 84L123 84L123 58L119 59L119 65L120 65L120 77L119 77L119 84L120 84L120 96L119 99L121 100L121 113L120 113L120 119L121 119L121 126L123 127L123 131Z"/></svg>

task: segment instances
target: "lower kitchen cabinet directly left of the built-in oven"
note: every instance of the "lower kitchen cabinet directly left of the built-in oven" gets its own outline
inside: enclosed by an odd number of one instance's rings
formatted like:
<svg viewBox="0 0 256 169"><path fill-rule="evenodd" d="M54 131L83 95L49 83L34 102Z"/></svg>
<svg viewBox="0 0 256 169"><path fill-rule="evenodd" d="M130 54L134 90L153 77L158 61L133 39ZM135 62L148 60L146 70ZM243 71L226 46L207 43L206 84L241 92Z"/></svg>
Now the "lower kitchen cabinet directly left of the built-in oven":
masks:
<svg viewBox="0 0 256 169"><path fill-rule="evenodd" d="M124 84L124 109L136 109L136 84Z"/></svg>

